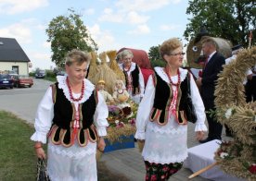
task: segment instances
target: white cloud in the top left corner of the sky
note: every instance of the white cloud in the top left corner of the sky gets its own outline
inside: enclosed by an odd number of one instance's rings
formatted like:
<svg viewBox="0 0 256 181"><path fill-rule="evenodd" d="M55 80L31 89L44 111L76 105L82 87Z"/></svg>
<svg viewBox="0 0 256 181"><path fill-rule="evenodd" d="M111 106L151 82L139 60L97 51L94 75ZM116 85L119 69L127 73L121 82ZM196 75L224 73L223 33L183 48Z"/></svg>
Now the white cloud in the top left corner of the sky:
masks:
<svg viewBox="0 0 256 181"><path fill-rule="evenodd" d="M13 15L22 12L33 11L34 9L48 5L48 0L2 0L0 1L0 13Z"/></svg>

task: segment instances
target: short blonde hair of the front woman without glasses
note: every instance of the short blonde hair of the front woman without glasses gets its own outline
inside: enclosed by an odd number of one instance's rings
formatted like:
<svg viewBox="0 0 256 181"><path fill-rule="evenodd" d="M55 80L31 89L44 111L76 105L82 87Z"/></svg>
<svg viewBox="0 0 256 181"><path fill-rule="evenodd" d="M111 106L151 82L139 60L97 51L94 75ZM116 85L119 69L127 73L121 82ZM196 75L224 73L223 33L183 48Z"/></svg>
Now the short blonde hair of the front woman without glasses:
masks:
<svg viewBox="0 0 256 181"><path fill-rule="evenodd" d="M73 49L66 55L65 64L67 66L71 66L73 63L77 63L79 66L81 66L83 62L89 63L91 58L91 54Z"/></svg>

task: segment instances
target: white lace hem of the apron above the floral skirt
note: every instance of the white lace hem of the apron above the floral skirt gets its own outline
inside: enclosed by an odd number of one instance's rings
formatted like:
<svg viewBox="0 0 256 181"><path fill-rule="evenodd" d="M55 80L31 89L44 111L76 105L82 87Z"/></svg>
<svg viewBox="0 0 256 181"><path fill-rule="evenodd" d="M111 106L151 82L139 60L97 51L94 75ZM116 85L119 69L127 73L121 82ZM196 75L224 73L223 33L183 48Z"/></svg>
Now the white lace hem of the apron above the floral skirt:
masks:
<svg viewBox="0 0 256 181"><path fill-rule="evenodd" d="M187 151L185 154L180 155L173 155L168 157L161 157L158 154L147 154L147 156L143 155L144 160L148 161L149 163L182 163L187 158Z"/></svg>

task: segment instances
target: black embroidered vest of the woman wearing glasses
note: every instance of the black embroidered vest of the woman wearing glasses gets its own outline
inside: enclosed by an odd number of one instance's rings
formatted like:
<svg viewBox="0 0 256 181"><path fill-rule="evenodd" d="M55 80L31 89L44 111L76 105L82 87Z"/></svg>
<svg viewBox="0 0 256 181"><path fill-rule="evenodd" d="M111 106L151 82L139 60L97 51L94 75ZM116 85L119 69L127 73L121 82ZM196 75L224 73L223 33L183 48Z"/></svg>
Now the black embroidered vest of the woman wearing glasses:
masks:
<svg viewBox="0 0 256 181"><path fill-rule="evenodd" d="M150 121L156 121L159 125L166 125L168 122L168 113L171 102L173 100L173 90L171 85L165 82L155 72L155 99L153 108L150 113ZM176 114L178 122L181 125L186 125L186 99L187 99L187 77L181 82L180 91L177 98Z"/></svg>

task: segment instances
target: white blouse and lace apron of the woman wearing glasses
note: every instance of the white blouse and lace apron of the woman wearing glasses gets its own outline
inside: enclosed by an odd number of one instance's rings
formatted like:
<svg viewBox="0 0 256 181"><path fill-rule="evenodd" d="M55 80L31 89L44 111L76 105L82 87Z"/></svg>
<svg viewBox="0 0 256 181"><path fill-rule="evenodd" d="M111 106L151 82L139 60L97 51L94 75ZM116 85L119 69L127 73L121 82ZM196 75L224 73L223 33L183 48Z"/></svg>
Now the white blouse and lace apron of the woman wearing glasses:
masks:
<svg viewBox="0 0 256 181"><path fill-rule="evenodd" d="M181 81L186 78L187 70L180 68ZM165 82L170 83L167 74L162 67L155 67L155 71ZM192 103L198 117L195 131L207 131L205 126L206 115L204 105L198 92L194 78L190 78L190 90ZM172 77L173 82L178 81L178 76ZM175 87L173 86L173 89ZM183 162L187 157L187 125L178 125L172 114L165 126L160 126L149 121L149 114L153 107L155 98L155 86L152 76L148 78L145 95L139 104L136 116L136 139L145 139L142 152L144 160L151 163L176 163Z"/></svg>

